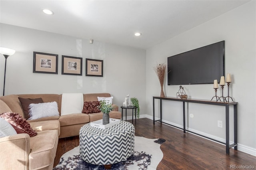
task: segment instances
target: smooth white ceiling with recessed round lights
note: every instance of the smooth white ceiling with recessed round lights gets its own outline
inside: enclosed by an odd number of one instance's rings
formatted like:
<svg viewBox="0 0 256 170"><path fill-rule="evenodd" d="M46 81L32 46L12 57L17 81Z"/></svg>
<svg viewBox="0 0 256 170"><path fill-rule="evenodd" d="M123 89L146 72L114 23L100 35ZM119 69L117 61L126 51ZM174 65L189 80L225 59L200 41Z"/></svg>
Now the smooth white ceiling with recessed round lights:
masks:
<svg viewBox="0 0 256 170"><path fill-rule="evenodd" d="M0 22L147 49L248 0L0 0ZM47 8L54 15L46 15ZM134 36L135 32L142 33Z"/></svg>

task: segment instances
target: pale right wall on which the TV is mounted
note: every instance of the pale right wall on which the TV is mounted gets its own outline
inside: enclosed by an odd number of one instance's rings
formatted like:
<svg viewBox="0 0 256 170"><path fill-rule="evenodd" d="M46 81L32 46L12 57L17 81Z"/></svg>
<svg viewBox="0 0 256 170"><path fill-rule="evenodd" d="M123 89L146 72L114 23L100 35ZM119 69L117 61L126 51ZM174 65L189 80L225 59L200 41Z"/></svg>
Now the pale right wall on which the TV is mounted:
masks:
<svg viewBox="0 0 256 170"><path fill-rule="evenodd" d="M238 150L256 156L256 2L250 1L222 16L214 18L166 42L146 51L146 111L152 116L152 96L160 95L160 84L153 67L156 63L167 63L167 57L186 52L211 43L225 40L225 72L231 73L230 95L238 102ZM198 75L200 76L200 75ZM213 81L213 80L212 80ZM178 85L164 83L165 95L176 97ZM184 85L189 98L211 99L213 85ZM220 90L218 95L221 96ZM227 96L227 86L224 87ZM156 102L156 110L159 102ZM189 103L187 128L225 140L225 107ZM164 101L163 119L182 127L182 102ZM194 115L190 118L188 115ZM230 118L233 109L230 107ZM156 115L159 117L159 115ZM217 121L223 121L223 128ZM233 123L230 123L230 139L233 140Z"/></svg>

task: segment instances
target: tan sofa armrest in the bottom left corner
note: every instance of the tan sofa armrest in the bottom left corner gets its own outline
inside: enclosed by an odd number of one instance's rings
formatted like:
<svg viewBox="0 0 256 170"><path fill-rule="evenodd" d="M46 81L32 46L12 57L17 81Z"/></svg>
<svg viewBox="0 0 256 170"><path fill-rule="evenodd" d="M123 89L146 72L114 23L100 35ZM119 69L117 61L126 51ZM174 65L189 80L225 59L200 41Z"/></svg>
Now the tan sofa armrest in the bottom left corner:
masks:
<svg viewBox="0 0 256 170"><path fill-rule="evenodd" d="M0 169L29 169L30 136L26 133L0 138Z"/></svg>

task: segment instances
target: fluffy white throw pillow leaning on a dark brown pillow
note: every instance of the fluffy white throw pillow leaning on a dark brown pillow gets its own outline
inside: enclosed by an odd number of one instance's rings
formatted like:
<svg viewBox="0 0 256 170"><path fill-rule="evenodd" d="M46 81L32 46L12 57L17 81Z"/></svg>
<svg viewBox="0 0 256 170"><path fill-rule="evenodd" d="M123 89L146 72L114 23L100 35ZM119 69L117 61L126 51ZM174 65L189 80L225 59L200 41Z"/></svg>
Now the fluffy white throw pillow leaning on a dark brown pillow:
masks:
<svg viewBox="0 0 256 170"><path fill-rule="evenodd" d="M38 104L31 103L28 108L28 113L30 115L28 120L35 120L42 117L59 116L58 104L56 101Z"/></svg>

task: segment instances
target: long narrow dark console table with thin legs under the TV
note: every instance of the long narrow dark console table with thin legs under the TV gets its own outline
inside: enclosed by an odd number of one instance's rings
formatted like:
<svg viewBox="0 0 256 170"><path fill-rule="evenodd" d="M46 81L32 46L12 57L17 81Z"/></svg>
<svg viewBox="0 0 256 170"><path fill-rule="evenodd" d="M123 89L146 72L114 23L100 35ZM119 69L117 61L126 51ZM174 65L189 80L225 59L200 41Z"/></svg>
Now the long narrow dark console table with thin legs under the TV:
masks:
<svg viewBox="0 0 256 170"><path fill-rule="evenodd" d="M217 142L226 144L226 154L229 154L229 149L234 147L235 150L237 150L237 102L216 102L216 101L209 101L209 100L200 100L200 99L178 99L176 97L153 97L153 123L155 124L155 99L160 99L160 120L156 120L160 123L162 122L162 100L168 100L168 101L180 101L183 103L183 132L186 133L186 131L191 132L189 130L186 130L186 120L185 120L185 103L200 103L200 104L208 104L208 105L219 105L219 106L225 106L226 107L226 143L220 142L218 140L209 138L211 140L215 140ZM229 144L229 106L234 106L234 144ZM168 124L168 123L165 123ZM170 125L170 124L168 124ZM173 126L173 125L170 125ZM194 132L192 132L194 133ZM196 133L194 133L196 134ZM200 135L200 134L197 134ZM203 136L203 135L200 135Z"/></svg>

